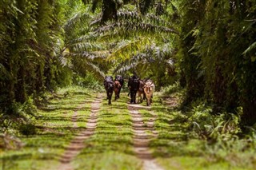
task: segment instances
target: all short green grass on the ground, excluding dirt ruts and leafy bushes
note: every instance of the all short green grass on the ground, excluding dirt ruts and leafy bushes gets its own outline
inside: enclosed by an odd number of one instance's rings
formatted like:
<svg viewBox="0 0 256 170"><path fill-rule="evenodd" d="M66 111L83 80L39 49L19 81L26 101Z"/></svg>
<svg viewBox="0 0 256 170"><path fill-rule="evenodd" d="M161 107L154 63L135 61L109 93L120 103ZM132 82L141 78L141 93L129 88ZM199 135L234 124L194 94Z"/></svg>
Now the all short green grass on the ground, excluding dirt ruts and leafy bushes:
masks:
<svg viewBox="0 0 256 170"><path fill-rule="evenodd" d="M0 167L8 170L57 169L58 159L74 134L86 128L96 95L91 95L86 89L60 89L58 97L38 110L37 133L18 136L25 146L20 150L0 150ZM122 93L118 101L113 100L112 105L107 105L106 94L102 95L94 135L85 140L85 148L71 164L77 170L142 169L142 160L134 156L132 120L127 109L129 98ZM151 140L149 146L162 168L250 170L256 167L254 142L237 139L209 144L207 140L191 136L189 116L178 108L167 107L161 95L154 94L150 110L142 108L138 112L145 124L155 115L154 128L158 137ZM81 105L82 109L78 109ZM146 102L143 101L142 105L145 106ZM73 128L75 110L78 128Z"/></svg>

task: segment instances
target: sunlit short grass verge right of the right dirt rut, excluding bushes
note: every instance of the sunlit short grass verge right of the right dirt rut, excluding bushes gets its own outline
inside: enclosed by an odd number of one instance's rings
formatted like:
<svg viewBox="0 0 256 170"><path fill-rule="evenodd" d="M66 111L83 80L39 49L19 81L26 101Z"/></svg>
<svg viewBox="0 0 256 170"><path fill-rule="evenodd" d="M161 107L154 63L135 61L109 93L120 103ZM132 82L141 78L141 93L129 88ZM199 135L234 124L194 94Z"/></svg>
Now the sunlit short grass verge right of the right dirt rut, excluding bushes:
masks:
<svg viewBox="0 0 256 170"><path fill-rule="evenodd" d="M163 168L254 169L255 149L240 149L239 144L243 140L226 142L230 146L238 147L230 149L225 148L222 143L209 144L206 140L192 137L186 113L162 104L165 104L165 101L158 95L154 96L152 110L158 116L154 126L158 131L158 138L150 142L150 147L154 150L158 164Z"/></svg>

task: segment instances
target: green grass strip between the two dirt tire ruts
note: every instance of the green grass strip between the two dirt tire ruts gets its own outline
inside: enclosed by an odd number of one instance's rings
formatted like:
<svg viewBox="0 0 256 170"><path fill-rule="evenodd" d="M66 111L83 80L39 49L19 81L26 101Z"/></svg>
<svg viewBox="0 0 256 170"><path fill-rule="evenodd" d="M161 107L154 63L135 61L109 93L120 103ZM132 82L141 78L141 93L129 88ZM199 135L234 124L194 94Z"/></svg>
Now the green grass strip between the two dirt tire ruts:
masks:
<svg viewBox="0 0 256 170"><path fill-rule="evenodd" d="M103 97L97 128L94 135L85 141L86 148L72 163L75 169L142 168L142 161L133 152L132 122L126 106L128 100L122 93L118 101L107 105Z"/></svg>

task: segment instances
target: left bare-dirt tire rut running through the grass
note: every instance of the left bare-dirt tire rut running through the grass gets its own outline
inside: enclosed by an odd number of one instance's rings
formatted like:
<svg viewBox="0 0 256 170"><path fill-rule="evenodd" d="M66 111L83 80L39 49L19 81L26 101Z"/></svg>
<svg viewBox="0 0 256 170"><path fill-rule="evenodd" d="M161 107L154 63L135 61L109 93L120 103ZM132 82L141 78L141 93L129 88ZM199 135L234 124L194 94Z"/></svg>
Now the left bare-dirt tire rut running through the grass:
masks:
<svg viewBox="0 0 256 170"><path fill-rule="evenodd" d="M58 170L73 170L70 162L78 156L79 152L85 147L84 140L88 139L94 134L94 130L97 127L98 111L100 109L100 104L102 103L102 96L97 97L91 104L90 117L87 120L86 128L74 136L70 144L66 147L66 151L60 158L60 166ZM82 104L84 105L84 104ZM74 115L71 118L73 122L73 127L78 128L76 123L78 117L78 110L82 109L82 105L79 105L77 109L74 110Z"/></svg>

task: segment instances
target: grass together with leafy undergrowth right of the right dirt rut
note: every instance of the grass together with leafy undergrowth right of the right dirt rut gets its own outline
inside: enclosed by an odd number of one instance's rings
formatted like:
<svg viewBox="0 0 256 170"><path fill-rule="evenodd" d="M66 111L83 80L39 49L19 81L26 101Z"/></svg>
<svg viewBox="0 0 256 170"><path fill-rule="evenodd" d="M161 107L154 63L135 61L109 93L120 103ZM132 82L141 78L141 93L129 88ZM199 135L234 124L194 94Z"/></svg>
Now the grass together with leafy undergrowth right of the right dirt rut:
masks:
<svg viewBox="0 0 256 170"><path fill-rule="evenodd" d="M242 133L240 113L213 114L211 105L204 101L196 101L185 110L184 105L181 107L182 102L170 107L165 101L168 97L181 101L184 94L184 89L177 85L167 87L163 94L158 105L164 104L166 109L154 104L158 115L155 127L159 134L151 143L154 155L165 157L158 159L163 166L171 169L254 169L255 130L250 127L249 133Z"/></svg>

